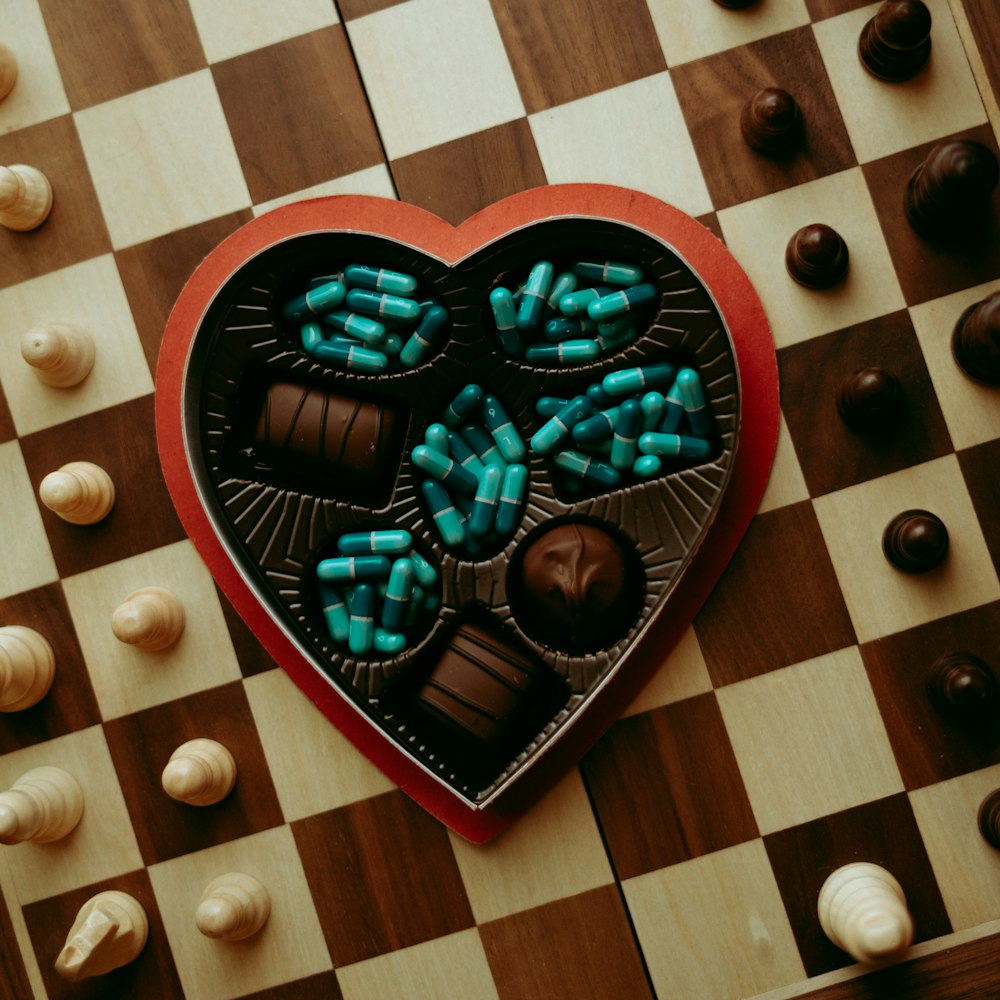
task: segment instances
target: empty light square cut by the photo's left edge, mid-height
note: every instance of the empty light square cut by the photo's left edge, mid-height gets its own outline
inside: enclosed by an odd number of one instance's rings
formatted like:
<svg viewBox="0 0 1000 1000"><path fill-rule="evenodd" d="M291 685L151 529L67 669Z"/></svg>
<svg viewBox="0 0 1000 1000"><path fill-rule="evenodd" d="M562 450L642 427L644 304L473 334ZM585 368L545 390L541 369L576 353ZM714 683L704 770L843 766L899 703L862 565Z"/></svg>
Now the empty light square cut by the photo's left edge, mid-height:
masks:
<svg viewBox="0 0 1000 1000"><path fill-rule="evenodd" d="M59 579L17 441L0 444L0 549L0 598Z"/></svg>

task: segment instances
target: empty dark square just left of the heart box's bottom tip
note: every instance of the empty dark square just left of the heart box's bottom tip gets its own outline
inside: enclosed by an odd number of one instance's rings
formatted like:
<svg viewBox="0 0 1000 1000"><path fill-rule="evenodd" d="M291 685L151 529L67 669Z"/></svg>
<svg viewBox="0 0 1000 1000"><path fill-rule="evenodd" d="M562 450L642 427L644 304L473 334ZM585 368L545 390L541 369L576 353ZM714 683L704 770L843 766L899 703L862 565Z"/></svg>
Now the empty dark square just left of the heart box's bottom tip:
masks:
<svg viewBox="0 0 1000 1000"><path fill-rule="evenodd" d="M447 831L402 792L292 832L334 966L475 926Z"/></svg>

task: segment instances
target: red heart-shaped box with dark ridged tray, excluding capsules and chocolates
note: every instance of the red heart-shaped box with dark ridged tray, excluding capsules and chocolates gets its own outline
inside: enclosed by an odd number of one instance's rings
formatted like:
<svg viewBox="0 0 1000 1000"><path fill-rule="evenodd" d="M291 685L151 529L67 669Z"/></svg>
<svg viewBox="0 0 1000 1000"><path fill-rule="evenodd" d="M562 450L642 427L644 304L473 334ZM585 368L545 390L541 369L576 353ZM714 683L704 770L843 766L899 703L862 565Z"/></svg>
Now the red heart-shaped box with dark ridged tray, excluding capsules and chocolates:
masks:
<svg viewBox="0 0 1000 1000"><path fill-rule="evenodd" d="M579 364L529 363L501 349L489 294L516 286L540 260L557 269L627 261L657 286L658 301L618 350ZM444 339L426 360L365 374L303 349L283 307L352 262L413 275L421 294L446 307ZM713 421L707 459L602 486L568 479L549 456L529 453L513 533L475 551L444 544L421 490L426 475L411 455L465 386L499 399L527 442L544 423L539 397L569 398L610 372L663 361L701 378ZM293 400L308 397L306 405L347 401L374 414L379 429L355 453L315 461L282 459L280 448L268 454L268 407L285 385L295 387L282 390ZM363 196L262 216L213 251L181 293L156 398L171 495L234 606L361 750L477 842L579 759L690 624L759 502L778 414L767 321L732 256L678 210L603 185L524 192L459 227ZM596 527L625 556L622 584L631 596L612 604L619 613L596 646L569 635L562 642L524 583L524 553L561 523ZM412 624L402 650L354 655L331 638L317 565L336 556L344 534L400 528L436 570L434 609ZM463 687L463 671L481 667L482 644L487 659L499 650L501 660L523 666L532 687L518 725L508 732L501 724L502 739L477 744L421 707L422 692L443 673Z"/></svg>

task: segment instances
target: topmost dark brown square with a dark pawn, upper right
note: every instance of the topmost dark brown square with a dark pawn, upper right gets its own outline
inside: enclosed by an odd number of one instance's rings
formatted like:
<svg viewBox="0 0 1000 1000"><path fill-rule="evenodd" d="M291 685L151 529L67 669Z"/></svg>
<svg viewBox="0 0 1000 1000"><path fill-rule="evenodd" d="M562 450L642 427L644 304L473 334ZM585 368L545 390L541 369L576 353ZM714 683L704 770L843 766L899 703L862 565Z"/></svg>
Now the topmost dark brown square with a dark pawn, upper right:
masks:
<svg viewBox="0 0 1000 1000"><path fill-rule="evenodd" d="M716 209L761 198L857 163L809 26L670 71ZM781 87L805 123L801 146L773 157L746 144L740 111L758 90Z"/></svg>

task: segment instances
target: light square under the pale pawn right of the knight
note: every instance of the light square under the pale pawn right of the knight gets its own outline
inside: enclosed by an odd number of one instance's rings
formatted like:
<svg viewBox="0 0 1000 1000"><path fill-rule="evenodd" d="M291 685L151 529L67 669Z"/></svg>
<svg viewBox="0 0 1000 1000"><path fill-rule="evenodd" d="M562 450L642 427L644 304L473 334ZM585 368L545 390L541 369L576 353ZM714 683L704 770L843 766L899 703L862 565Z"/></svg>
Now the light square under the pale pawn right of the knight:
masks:
<svg viewBox="0 0 1000 1000"><path fill-rule="evenodd" d="M205 887L226 872L252 875L271 896L271 915L242 941L198 930ZM151 865L149 878L188 1000L228 1000L333 967L288 826Z"/></svg>

